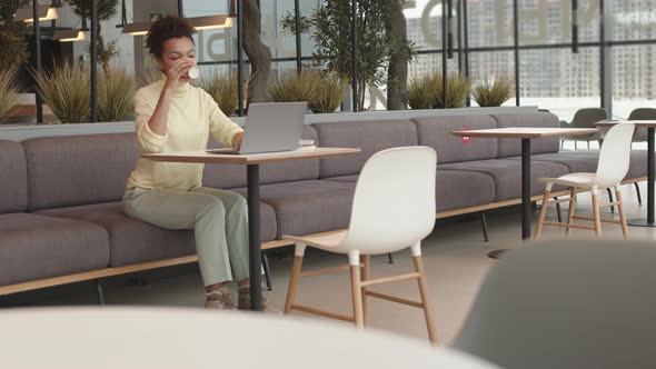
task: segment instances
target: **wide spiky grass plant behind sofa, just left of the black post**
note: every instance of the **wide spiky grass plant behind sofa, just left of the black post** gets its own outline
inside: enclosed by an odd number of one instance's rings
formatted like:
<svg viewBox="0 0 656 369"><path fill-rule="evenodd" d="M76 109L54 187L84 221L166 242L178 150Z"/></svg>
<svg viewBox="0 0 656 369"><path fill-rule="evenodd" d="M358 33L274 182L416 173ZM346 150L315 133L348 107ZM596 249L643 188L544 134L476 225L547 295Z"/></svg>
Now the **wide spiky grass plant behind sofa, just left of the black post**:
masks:
<svg viewBox="0 0 656 369"><path fill-rule="evenodd" d="M36 76L39 93L62 123L81 123L91 116L89 73L68 62Z"/></svg>

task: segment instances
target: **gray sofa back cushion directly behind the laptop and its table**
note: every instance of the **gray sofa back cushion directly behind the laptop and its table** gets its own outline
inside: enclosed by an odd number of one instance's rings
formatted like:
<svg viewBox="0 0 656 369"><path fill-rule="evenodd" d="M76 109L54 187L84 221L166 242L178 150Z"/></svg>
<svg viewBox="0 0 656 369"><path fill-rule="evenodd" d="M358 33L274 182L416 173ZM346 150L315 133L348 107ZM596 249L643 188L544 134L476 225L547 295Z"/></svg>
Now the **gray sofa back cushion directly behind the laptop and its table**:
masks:
<svg viewBox="0 0 656 369"><path fill-rule="evenodd" d="M318 144L317 131L305 126L302 138L315 140ZM220 143L211 142L209 148L220 148ZM272 162L260 166L260 183L279 183L319 178L319 159ZM246 167L228 164L206 164L202 178L203 186L221 189L246 187Z"/></svg>

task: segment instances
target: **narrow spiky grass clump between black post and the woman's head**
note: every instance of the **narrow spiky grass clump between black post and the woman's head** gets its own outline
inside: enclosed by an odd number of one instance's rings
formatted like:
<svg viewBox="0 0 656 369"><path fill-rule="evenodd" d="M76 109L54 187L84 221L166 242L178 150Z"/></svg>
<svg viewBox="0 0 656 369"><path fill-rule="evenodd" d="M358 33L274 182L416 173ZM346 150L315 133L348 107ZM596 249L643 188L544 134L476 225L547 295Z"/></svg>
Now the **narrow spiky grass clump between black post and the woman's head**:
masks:
<svg viewBox="0 0 656 369"><path fill-rule="evenodd" d="M103 122L121 121L135 111L135 76L125 69L112 70L98 83L98 119Z"/></svg>

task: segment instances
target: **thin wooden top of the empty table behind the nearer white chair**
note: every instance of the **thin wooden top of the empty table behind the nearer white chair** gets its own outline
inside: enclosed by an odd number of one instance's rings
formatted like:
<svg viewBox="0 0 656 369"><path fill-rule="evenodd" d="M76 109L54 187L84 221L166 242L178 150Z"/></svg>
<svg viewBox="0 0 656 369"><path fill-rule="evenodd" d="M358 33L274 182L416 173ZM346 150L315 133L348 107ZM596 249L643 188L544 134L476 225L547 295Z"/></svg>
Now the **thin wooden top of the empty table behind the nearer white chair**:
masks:
<svg viewBox="0 0 656 369"><path fill-rule="evenodd" d="M596 128L507 127L473 129L466 131L455 131L451 133L459 137L537 139L544 137L586 136L597 131L598 130Z"/></svg>

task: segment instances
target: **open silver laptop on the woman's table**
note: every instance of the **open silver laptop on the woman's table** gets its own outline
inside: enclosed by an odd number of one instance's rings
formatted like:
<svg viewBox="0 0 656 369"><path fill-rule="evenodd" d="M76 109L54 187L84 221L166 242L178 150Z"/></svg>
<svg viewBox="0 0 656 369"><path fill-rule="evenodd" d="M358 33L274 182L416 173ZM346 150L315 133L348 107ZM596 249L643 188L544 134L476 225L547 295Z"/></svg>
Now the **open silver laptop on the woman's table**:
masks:
<svg viewBox="0 0 656 369"><path fill-rule="evenodd" d="M241 149L213 149L211 153L264 153L299 148L307 102L251 103L243 127Z"/></svg>

